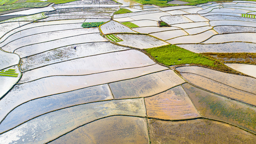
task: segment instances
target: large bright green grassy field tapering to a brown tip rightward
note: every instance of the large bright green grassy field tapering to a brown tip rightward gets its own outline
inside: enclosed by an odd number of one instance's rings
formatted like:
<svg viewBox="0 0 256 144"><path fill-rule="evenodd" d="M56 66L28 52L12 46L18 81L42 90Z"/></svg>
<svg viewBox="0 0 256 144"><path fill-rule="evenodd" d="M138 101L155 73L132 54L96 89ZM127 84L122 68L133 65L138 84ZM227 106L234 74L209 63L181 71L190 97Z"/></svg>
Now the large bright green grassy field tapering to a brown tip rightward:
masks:
<svg viewBox="0 0 256 144"><path fill-rule="evenodd" d="M183 64L195 64L202 65L208 68L219 70L222 72L229 72L232 74L238 74L239 72L229 68L219 60L203 56L190 52L184 48L180 48L175 45L166 45L156 48L148 48L145 51L150 54L157 62L160 62L167 66L183 65Z"/></svg>

